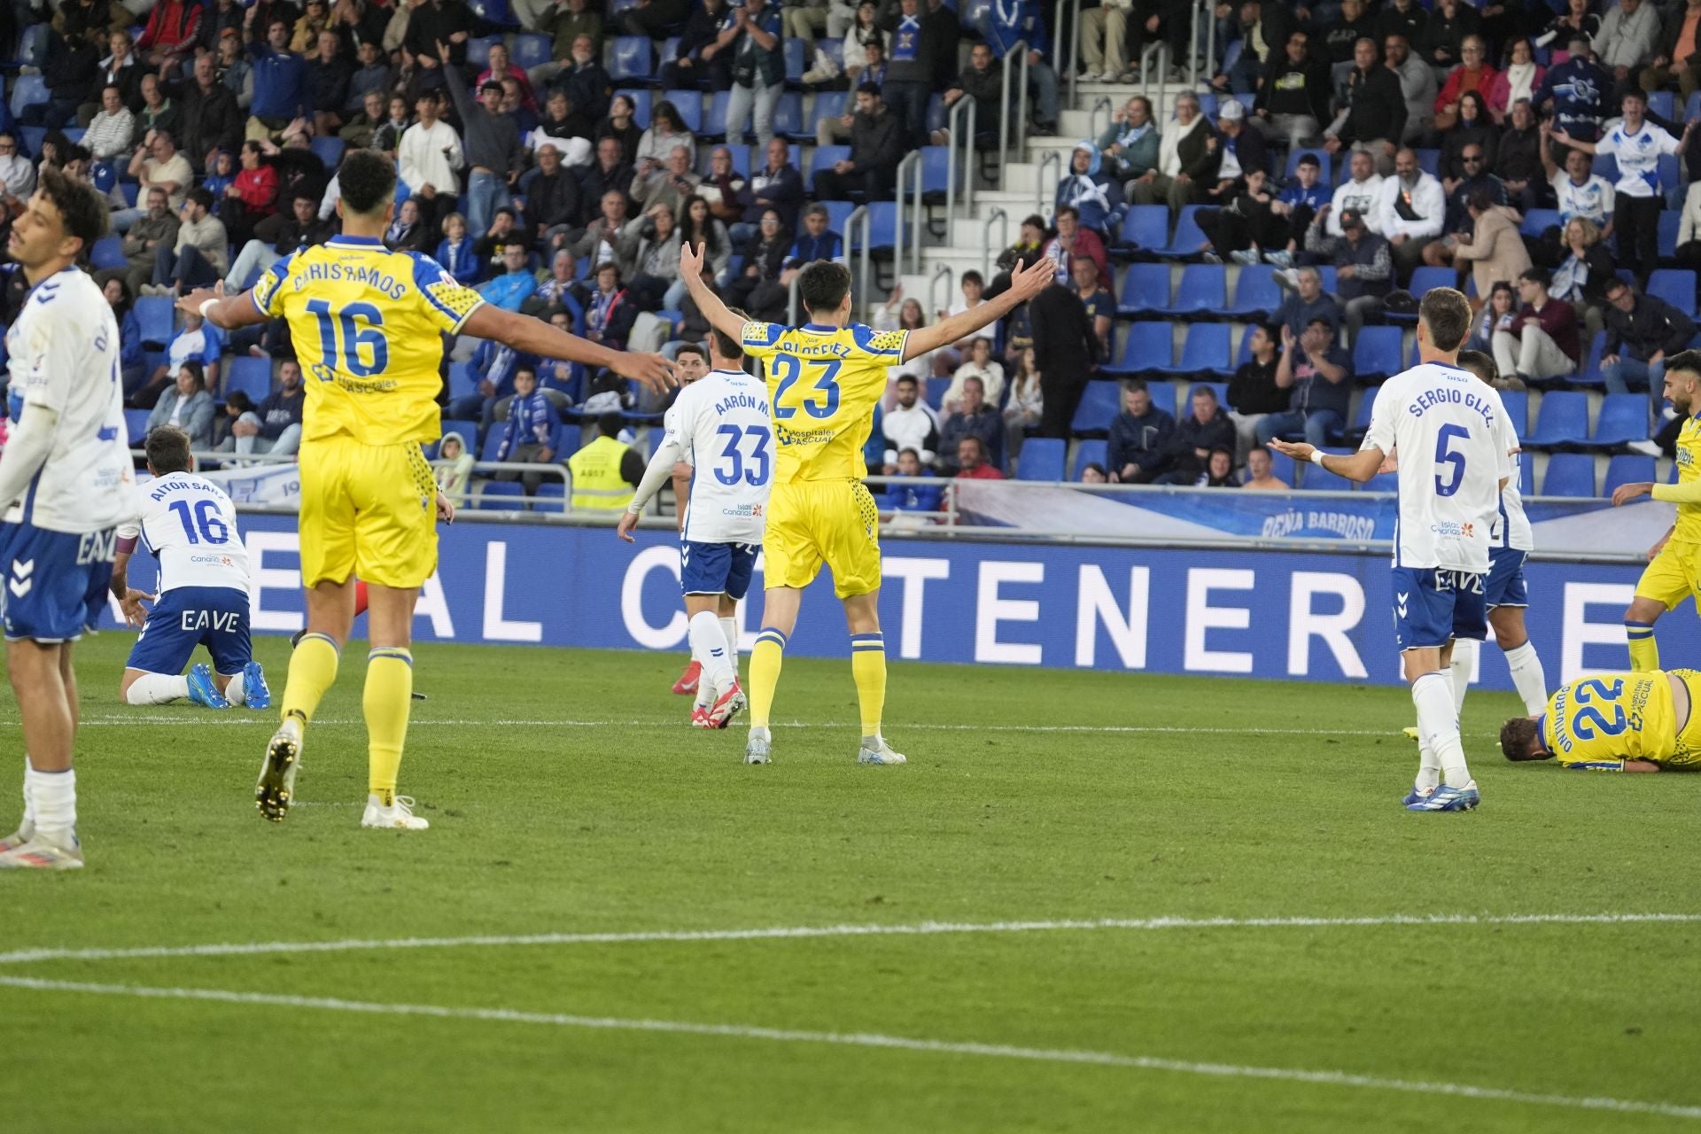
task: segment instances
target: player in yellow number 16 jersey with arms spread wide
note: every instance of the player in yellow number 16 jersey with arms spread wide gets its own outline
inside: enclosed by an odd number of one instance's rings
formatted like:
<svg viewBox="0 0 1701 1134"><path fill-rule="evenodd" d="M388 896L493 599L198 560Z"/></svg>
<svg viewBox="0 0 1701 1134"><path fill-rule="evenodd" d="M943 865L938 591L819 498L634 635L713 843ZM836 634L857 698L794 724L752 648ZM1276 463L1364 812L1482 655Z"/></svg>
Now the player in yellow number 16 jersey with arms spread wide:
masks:
<svg viewBox="0 0 1701 1134"><path fill-rule="evenodd" d="M308 629L289 660L282 724L265 748L255 789L262 814L289 813L301 740L354 621L354 580L367 585L366 668L369 794L362 826L424 830L396 796L396 768L413 690L413 600L437 570L437 498L422 442L439 435L442 335L495 338L526 354L609 367L657 389L670 381L660 355L623 354L541 320L485 304L430 257L390 252L396 170L356 150L338 173L342 235L279 260L253 291L197 291L179 306L216 326L289 320L306 374L301 439L301 583Z"/></svg>

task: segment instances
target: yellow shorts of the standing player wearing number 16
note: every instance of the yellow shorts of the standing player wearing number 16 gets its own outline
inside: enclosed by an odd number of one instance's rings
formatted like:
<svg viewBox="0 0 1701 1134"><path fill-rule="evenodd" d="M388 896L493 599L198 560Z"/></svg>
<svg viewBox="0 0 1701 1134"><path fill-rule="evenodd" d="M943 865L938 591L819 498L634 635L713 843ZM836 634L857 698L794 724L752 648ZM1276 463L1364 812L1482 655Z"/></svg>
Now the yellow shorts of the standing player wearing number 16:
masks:
<svg viewBox="0 0 1701 1134"><path fill-rule="evenodd" d="M301 583L420 587L437 570L437 485L417 440L301 442Z"/></svg>

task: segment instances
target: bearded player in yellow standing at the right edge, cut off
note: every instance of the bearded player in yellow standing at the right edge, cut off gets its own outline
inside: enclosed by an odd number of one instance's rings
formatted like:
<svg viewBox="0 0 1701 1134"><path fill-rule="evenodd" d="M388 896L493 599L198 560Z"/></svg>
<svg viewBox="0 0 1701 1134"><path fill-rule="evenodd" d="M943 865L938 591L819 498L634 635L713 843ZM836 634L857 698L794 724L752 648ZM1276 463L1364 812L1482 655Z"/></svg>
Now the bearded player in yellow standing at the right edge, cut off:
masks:
<svg viewBox="0 0 1701 1134"><path fill-rule="evenodd" d="M1701 410L1701 350L1682 350L1665 360L1665 396L1677 413ZM1630 668L1658 670L1660 646L1653 641L1653 624L1667 610L1694 595L1701 602L1701 420L1691 417L1677 434L1677 483L1619 485L1613 507L1638 496L1653 496L1677 505L1677 522L1665 539L1648 551L1648 566L1636 583L1636 597L1624 610L1624 634L1630 638Z"/></svg>

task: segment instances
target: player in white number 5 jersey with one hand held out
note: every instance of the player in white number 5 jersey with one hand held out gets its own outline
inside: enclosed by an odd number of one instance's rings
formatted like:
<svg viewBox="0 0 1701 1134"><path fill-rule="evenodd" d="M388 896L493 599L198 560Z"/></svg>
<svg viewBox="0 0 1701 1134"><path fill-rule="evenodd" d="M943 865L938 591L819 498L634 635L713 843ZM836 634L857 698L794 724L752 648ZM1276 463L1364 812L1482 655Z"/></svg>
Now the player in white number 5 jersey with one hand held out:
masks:
<svg viewBox="0 0 1701 1134"><path fill-rule="evenodd" d="M1470 811L1482 796L1465 763L1446 668L1456 638L1487 634L1488 534L1512 473L1500 394L1458 366L1471 308L1451 287L1419 304L1420 362L1376 394L1371 428L1351 456L1271 442L1352 481L1376 476L1398 449L1400 508L1393 539L1395 644L1417 706L1417 782L1408 811Z"/></svg>

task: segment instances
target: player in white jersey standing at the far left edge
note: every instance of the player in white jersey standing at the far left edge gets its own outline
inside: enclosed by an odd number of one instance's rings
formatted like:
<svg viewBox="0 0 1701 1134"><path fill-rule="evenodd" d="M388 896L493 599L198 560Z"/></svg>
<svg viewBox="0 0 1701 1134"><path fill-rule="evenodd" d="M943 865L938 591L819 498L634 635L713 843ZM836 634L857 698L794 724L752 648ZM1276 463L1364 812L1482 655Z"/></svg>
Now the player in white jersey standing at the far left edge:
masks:
<svg viewBox="0 0 1701 1134"><path fill-rule="evenodd" d="M77 267L105 231L105 214L92 187L44 170L7 241L31 287L7 330L24 410L0 454L7 673L27 765L24 821L0 840L0 869L83 865L71 644L105 607L116 529L136 507L117 321Z"/></svg>

